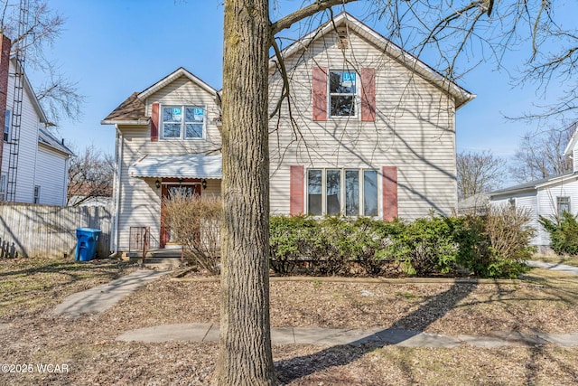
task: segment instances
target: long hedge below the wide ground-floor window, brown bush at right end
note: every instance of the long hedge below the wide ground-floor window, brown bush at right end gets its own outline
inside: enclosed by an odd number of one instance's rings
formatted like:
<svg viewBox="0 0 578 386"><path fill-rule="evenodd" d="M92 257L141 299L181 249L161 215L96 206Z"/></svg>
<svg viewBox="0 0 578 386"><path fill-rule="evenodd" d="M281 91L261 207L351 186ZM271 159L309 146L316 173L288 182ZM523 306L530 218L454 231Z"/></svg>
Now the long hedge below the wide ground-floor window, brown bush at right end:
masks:
<svg viewBox="0 0 578 386"><path fill-rule="evenodd" d="M480 278L516 278L534 249L529 212L488 207L481 216L430 216L412 222L341 216L272 216L270 266L288 275L379 276L396 262L407 275L473 272ZM301 264L303 263L303 264Z"/></svg>

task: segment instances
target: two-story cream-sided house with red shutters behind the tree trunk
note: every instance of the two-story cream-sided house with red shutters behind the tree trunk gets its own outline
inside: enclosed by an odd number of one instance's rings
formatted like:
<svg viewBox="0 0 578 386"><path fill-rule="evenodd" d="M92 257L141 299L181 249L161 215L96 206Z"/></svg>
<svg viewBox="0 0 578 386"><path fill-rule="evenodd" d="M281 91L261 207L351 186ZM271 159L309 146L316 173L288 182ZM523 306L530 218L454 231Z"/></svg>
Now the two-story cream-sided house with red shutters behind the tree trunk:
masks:
<svg viewBox="0 0 578 386"><path fill-rule="evenodd" d="M474 95L346 13L282 55L269 67L273 214L452 213L455 113ZM117 129L113 250L129 249L131 227L148 227L152 247L170 241L172 190L220 193L219 100L180 68L103 120Z"/></svg>

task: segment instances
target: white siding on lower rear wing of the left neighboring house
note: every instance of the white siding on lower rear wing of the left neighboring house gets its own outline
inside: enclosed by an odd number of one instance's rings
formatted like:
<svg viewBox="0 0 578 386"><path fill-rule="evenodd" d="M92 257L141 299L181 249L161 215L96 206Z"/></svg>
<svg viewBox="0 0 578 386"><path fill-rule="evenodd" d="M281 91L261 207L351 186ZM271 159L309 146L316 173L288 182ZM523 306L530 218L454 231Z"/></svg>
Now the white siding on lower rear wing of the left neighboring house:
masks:
<svg viewBox="0 0 578 386"><path fill-rule="evenodd" d="M40 202L45 205L66 205L68 183L68 155L38 146L36 178L34 184L41 187Z"/></svg>

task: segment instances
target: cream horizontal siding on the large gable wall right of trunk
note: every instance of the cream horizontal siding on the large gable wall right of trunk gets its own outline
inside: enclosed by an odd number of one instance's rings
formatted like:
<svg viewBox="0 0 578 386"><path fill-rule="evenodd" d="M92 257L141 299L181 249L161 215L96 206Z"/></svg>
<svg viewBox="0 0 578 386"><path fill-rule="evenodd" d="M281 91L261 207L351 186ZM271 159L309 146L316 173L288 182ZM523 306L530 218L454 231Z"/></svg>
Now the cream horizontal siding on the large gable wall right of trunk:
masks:
<svg viewBox="0 0 578 386"><path fill-rule="evenodd" d="M358 73L361 68L374 68L376 121L328 118L313 122L313 66ZM354 33L350 33L345 57L331 33L308 51L288 58L286 67L299 133L289 125L285 104L279 128L276 119L270 124L272 212L289 212L290 165L379 170L387 165L397 167L400 217L415 219L432 210L452 213L457 202L455 127L454 103L448 94ZM282 87L279 74L272 74L271 109Z"/></svg>

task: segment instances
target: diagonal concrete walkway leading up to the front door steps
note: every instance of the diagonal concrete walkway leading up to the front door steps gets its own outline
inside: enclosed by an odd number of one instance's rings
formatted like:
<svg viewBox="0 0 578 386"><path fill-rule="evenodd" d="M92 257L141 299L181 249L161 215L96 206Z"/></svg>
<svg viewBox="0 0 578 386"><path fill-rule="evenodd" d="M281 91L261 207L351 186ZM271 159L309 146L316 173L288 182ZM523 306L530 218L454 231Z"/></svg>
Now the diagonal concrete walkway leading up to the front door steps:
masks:
<svg viewBox="0 0 578 386"><path fill-rule="evenodd" d="M168 273L168 270L141 269L129 273L122 278L112 280L102 286L87 289L86 291L70 295L54 308L54 314L79 317L83 314L100 314L129 294L135 292L138 287L160 278Z"/></svg>

